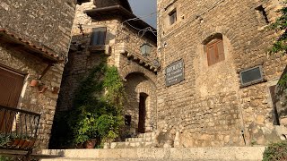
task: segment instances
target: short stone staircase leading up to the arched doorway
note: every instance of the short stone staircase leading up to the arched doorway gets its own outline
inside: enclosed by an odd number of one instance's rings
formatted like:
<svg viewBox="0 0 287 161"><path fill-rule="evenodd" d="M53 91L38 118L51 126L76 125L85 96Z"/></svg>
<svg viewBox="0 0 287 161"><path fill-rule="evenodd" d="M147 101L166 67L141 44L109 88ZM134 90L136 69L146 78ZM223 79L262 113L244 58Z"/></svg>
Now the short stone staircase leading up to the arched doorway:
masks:
<svg viewBox="0 0 287 161"><path fill-rule="evenodd" d="M154 148L155 132L140 133L136 138L127 138L125 142L112 142L105 148Z"/></svg>

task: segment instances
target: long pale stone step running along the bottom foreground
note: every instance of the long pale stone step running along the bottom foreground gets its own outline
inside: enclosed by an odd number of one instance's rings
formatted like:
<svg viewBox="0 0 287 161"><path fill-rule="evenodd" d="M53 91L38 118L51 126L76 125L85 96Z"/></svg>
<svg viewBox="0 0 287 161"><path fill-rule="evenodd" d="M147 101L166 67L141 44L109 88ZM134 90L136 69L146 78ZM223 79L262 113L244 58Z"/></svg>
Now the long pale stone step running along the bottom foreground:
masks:
<svg viewBox="0 0 287 161"><path fill-rule="evenodd" d="M43 155L61 155L42 161L259 161L265 147L223 148L114 148L43 150Z"/></svg>

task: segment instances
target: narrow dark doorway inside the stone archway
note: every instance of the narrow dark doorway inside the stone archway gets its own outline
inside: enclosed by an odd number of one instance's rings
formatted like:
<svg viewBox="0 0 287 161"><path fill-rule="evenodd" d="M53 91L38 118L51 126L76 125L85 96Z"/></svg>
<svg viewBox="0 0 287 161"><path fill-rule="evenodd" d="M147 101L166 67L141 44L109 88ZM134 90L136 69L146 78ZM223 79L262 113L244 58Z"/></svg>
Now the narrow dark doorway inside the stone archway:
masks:
<svg viewBox="0 0 287 161"><path fill-rule="evenodd" d="M146 98L148 97L145 93L140 93L139 102L139 114L138 114L138 132L145 132L145 116L146 116Z"/></svg>

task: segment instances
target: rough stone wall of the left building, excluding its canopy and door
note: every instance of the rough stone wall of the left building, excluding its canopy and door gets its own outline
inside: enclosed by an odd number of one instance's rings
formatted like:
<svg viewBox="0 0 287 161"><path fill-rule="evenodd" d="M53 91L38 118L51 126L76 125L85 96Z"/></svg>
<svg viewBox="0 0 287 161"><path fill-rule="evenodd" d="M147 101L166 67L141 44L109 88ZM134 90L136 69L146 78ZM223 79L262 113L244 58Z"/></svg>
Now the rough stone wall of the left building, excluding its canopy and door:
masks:
<svg viewBox="0 0 287 161"><path fill-rule="evenodd" d="M55 53L65 61L74 8L72 0L65 2L4 0L0 2L0 28L37 47ZM26 74L18 107L41 114L39 148L48 148L58 97L57 93L53 94L52 91L60 87L64 62L54 64L43 75L41 83L48 87L44 93L39 93L38 87L30 87L30 81L37 80L48 66L41 56L35 56L22 47L1 42L0 64Z"/></svg>

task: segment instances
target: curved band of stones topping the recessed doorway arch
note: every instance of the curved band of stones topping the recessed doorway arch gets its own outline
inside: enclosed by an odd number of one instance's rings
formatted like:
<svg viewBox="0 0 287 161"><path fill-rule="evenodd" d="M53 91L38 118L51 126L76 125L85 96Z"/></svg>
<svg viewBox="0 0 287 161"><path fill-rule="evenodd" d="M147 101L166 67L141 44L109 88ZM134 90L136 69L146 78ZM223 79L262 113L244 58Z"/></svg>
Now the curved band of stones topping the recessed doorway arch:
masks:
<svg viewBox="0 0 287 161"><path fill-rule="evenodd" d="M121 71L120 75L121 75L122 79L125 81L126 81L127 75L134 73L134 72L138 72L138 73L143 73L144 76L146 78L148 78L149 80L152 80L153 83L156 82L156 75L153 72L148 71L147 69L145 69L142 66L139 66L137 64L136 65L134 65L134 64L127 65L126 67L124 67L120 71Z"/></svg>

